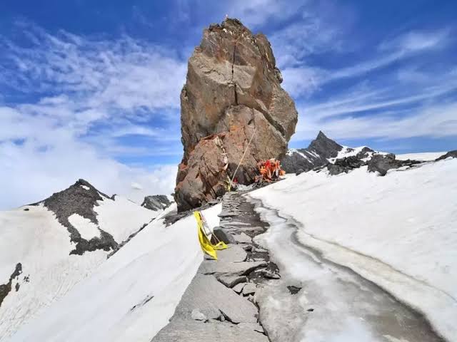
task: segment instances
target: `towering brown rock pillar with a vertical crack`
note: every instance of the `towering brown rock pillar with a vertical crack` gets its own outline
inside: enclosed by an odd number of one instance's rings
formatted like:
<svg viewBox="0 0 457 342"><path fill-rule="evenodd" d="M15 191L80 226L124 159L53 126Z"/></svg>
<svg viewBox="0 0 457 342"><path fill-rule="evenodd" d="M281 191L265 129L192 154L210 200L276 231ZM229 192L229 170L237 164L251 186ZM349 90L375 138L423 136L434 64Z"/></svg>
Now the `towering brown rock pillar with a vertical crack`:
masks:
<svg viewBox="0 0 457 342"><path fill-rule="evenodd" d="M266 36L253 35L236 19L204 30L181 91L179 210L223 195L246 147L236 172L241 184L253 182L259 160L285 154L297 112L281 82Z"/></svg>

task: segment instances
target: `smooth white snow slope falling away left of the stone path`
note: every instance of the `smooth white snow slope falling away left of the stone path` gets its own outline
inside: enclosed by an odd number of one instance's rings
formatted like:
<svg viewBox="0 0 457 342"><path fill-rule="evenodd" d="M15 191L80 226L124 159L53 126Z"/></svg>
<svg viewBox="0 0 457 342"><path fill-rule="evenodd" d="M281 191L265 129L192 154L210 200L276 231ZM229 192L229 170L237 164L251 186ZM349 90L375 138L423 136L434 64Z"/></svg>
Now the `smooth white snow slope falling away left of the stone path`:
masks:
<svg viewBox="0 0 457 342"><path fill-rule="evenodd" d="M166 211L176 209L176 204ZM206 209L211 227L221 204ZM173 315L203 254L193 216L166 227L154 219L11 342L149 342Z"/></svg>

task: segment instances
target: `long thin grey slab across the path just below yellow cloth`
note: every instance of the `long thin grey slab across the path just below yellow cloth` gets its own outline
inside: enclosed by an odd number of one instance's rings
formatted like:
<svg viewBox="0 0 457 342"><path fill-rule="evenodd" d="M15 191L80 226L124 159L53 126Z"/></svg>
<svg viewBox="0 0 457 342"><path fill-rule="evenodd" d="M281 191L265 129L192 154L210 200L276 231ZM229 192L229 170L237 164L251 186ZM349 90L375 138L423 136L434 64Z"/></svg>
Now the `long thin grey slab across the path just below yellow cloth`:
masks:
<svg viewBox="0 0 457 342"><path fill-rule="evenodd" d="M265 261L224 262L204 260L200 267L201 274L214 274L215 276L246 276L254 269L266 267Z"/></svg>

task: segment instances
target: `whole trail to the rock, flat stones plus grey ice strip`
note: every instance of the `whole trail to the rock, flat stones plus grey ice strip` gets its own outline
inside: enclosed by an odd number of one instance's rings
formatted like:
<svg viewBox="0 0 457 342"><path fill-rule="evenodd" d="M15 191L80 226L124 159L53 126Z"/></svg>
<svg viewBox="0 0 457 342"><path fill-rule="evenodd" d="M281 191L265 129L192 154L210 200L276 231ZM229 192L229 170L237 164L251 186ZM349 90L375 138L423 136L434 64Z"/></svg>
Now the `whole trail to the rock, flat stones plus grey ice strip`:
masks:
<svg viewBox="0 0 457 342"><path fill-rule="evenodd" d="M230 248L204 259L152 341L444 341L421 314L303 245L293 219L242 192L224 195L219 216L214 234Z"/></svg>

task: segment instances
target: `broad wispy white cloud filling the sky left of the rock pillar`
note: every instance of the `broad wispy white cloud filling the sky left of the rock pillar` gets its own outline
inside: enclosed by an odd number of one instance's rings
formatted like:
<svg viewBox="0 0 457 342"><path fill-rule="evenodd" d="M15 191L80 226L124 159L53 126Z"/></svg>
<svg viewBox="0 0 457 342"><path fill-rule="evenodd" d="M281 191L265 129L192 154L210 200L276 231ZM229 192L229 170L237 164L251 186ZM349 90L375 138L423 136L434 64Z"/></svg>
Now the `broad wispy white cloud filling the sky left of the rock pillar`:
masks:
<svg viewBox="0 0 457 342"><path fill-rule="evenodd" d="M109 41L23 29L27 48L3 40L0 57L0 65L9 66L0 69L0 87L6 89L0 103L0 187L8 194L0 209L44 199L79 178L137 201L169 194L176 166L129 167L114 157L181 154L185 61L173 50L128 36ZM7 90L27 100L4 102ZM129 135L154 144L119 142Z"/></svg>

